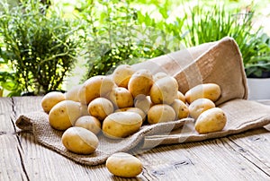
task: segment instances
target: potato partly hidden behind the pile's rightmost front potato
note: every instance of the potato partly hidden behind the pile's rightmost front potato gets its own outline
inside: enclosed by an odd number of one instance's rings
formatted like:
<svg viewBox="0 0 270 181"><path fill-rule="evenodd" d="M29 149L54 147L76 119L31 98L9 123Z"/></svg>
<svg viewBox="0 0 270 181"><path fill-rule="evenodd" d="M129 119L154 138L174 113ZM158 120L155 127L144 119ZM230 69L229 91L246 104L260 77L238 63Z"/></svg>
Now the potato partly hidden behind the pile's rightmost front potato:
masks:
<svg viewBox="0 0 270 181"><path fill-rule="evenodd" d="M189 105L189 113L190 113L190 116L192 116L194 119L197 119L198 116L202 114L202 112L210 108L215 108L215 107L216 107L215 103L213 103L211 99L206 99L206 98L195 99Z"/></svg>

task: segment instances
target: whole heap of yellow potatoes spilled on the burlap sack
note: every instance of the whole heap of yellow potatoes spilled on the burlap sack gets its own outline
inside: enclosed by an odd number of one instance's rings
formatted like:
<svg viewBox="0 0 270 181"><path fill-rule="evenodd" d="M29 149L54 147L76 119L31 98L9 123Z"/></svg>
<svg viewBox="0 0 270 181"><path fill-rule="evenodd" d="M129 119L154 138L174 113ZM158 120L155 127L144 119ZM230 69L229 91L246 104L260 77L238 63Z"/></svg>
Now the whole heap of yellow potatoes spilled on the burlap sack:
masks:
<svg viewBox="0 0 270 181"><path fill-rule="evenodd" d="M111 75L91 77L65 94L49 92L41 107L49 114L49 125L64 131L62 142L68 151L90 154L98 146L97 134L121 139L143 124L188 116L194 118L199 134L220 131L227 122L224 112L215 107L220 95L215 83L197 85L183 94L166 73L119 65Z"/></svg>

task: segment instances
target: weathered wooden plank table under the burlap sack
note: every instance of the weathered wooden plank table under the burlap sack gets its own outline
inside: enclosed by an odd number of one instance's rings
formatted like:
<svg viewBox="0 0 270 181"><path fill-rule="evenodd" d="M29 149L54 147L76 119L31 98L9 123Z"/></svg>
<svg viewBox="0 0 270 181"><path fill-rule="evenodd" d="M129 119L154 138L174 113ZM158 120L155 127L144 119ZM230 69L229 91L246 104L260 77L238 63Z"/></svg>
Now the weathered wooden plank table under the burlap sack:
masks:
<svg viewBox="0 0 270 181"><path fill-rule="evenodd" d="M104 165L78 165L16 134L21 113L40 109L40 97L0 98L0 180L270 180L270 133L265 128L204 142L160 146L137 155L143 172L112 177ZM270 113L269 113L270 114Z"/></svg>

